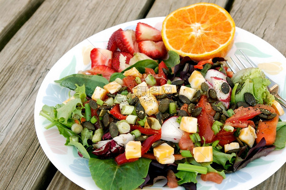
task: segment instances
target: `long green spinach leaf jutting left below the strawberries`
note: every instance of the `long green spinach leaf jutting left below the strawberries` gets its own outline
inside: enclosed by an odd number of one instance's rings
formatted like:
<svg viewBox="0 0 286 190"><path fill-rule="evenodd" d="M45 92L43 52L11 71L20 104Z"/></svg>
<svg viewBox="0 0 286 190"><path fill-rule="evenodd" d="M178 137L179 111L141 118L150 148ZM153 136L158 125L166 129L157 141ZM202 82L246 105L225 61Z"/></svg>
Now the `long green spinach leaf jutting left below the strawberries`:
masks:
<svg viewBox="0 0 286 190"><path fill-rule="evenodd" d="M92 97L92 94L97 86L103 88L104 85L108 84L108 80L104 77L98 75L83 75L83 74L73 74L66 76L60 80L55 80L54 82L59 83L61 86L67 87L71 90L75 90L76 85L85 86L85 93L87 96Z"/></svg>

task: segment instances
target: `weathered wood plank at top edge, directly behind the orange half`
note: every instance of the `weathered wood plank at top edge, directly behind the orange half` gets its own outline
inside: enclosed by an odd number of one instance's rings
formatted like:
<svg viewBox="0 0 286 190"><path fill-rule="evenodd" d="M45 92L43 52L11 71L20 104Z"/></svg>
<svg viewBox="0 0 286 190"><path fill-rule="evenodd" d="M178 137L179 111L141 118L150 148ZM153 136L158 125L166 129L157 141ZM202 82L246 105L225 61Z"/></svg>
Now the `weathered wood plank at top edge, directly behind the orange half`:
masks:
<svg viewBox="0 0 286 190"><path fill-rule="evenodd" d="M225 8L227 4L227 0L216 0L216 1L198 1L198 0L187 0L187 1L173 1L173 0L156 0L154 5L150 9L149 13L147 14L147 18L150 17L158 17L158 16L167 16L171 12L199 2L206 2L206 3L214 3L223 8Z"/></svg>

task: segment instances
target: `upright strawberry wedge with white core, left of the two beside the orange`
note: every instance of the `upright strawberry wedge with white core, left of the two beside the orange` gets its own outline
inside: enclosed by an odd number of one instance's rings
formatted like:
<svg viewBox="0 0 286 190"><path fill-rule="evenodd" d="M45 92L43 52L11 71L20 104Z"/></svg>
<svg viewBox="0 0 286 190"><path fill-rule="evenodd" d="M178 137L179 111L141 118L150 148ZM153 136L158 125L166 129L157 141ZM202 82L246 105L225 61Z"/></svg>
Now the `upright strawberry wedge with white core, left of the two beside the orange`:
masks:
<svg viewBox="0 0 286 190"><path fill-rule="evenodd" d="M135 31L131 29L119 31L116 35L117 46L121 51L128 52L133 55L134 43L136 42Z"/></svg>

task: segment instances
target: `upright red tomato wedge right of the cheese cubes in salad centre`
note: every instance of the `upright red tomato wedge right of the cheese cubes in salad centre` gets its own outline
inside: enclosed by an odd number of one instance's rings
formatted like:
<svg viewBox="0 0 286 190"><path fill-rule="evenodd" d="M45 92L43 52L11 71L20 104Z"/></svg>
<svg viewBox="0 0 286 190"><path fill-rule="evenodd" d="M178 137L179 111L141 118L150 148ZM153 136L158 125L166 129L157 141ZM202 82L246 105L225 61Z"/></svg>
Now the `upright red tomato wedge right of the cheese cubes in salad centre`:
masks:
<svg viewBox="0 0 286 190"><path fill-rule="evenodd" d="M197 116L198 134L204 137L206 143L211 143L214 138L212 125L214 123L213 115L215 111L208 102L207 96L202 96L197 103L197 107L202 107L202 112Z"/></svg>

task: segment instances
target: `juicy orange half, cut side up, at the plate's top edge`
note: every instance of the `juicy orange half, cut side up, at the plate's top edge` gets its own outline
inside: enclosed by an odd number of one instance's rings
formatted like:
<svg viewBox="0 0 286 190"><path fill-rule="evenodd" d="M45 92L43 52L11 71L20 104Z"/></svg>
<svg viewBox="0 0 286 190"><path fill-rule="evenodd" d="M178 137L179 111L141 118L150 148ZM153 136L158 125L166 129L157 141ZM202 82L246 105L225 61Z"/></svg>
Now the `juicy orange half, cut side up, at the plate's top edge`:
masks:
<svg viewBox="0 0 286 190"><path fill-rule="evenodd" d="M210 3L180 8L170 13L162 25L166 48L197 61L224 57L232 48L234 36L231 15Z"/></svg>

